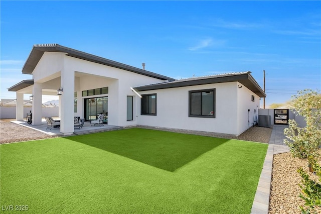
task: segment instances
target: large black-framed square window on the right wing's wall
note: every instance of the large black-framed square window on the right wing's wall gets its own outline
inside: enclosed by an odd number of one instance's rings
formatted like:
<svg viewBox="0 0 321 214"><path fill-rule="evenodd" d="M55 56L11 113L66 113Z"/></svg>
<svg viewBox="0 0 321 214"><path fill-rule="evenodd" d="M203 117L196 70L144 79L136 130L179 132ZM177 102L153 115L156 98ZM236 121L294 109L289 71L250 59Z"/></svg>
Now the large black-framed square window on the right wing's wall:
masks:
<svg viewBox="0 0 321 214"><path fill-rule="evenodd" d="M189 91L189 117L215 118L215 89Z"/></svg>

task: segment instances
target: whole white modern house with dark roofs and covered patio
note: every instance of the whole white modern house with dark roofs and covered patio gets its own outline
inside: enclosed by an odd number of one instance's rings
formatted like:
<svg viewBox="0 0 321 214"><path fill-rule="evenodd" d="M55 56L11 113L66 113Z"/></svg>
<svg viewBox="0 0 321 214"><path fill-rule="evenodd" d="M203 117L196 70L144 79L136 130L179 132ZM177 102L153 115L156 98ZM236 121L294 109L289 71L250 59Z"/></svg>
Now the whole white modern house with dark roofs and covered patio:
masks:
<svg viewBox="0 0 321 214"><path fill-rule="evenodd" d="M59 96L60 132L74 132L74 117L105 115L109 125L156 126L240 135L257 121L265 93L251 72L175 80L58 44L34 45L23 69L32 79L9 88L33 94L33 125L41 124L42 95Z"/></svg>

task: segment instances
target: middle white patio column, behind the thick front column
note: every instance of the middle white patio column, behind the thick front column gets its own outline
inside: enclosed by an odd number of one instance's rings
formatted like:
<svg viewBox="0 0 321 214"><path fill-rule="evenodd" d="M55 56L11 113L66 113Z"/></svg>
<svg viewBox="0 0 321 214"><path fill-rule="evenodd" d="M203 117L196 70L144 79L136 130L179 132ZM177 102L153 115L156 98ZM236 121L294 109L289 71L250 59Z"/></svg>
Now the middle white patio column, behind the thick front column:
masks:
<svg viewBox="0 0 321 214"><path fill-rule="evenodd" d="M35 82L32 100L32 125L41 125L42 121L42 84Z"/></svg>

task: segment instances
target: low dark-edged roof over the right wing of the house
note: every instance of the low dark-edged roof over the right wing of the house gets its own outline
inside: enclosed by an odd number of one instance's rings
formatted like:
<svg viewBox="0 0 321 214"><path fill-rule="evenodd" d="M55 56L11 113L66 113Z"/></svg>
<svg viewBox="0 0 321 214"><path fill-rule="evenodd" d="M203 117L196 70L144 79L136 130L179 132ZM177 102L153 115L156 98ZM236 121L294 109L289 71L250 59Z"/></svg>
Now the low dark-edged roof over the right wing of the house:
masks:
<svg viewBox="0 0 321 214"><path fill-rule="evenodd" d="M258 96L266 97L266 94L264 93L262 88L252 77L251 71L193 77L188 79L175 80L171 82L162 82L162 83L156 83L151 85L138 86L138 87L134 87L134 89L137 91L145 91L145 90L185 87L185 86L192 86L192 85L204 85L204 84L222 83L222 82L236 82L236 81L242 83L245 87L253 91Z"/></svg>

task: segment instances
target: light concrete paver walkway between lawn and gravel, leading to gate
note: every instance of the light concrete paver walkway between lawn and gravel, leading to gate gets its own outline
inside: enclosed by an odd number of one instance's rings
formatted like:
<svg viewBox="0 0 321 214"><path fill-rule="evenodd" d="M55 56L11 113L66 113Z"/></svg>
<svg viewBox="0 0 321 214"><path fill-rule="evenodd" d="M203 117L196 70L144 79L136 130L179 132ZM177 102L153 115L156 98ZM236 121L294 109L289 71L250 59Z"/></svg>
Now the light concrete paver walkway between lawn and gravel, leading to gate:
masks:
<svg viewBox="0 0 321 214"><path fill-rule="evenodd" d="M285 139L283 132L284 128L287 127L287 125L273 126L269 147L251 209L253 214L267 214L269 211L273 155L290 151L288 146L283 143L283 139Z"/></svg>

